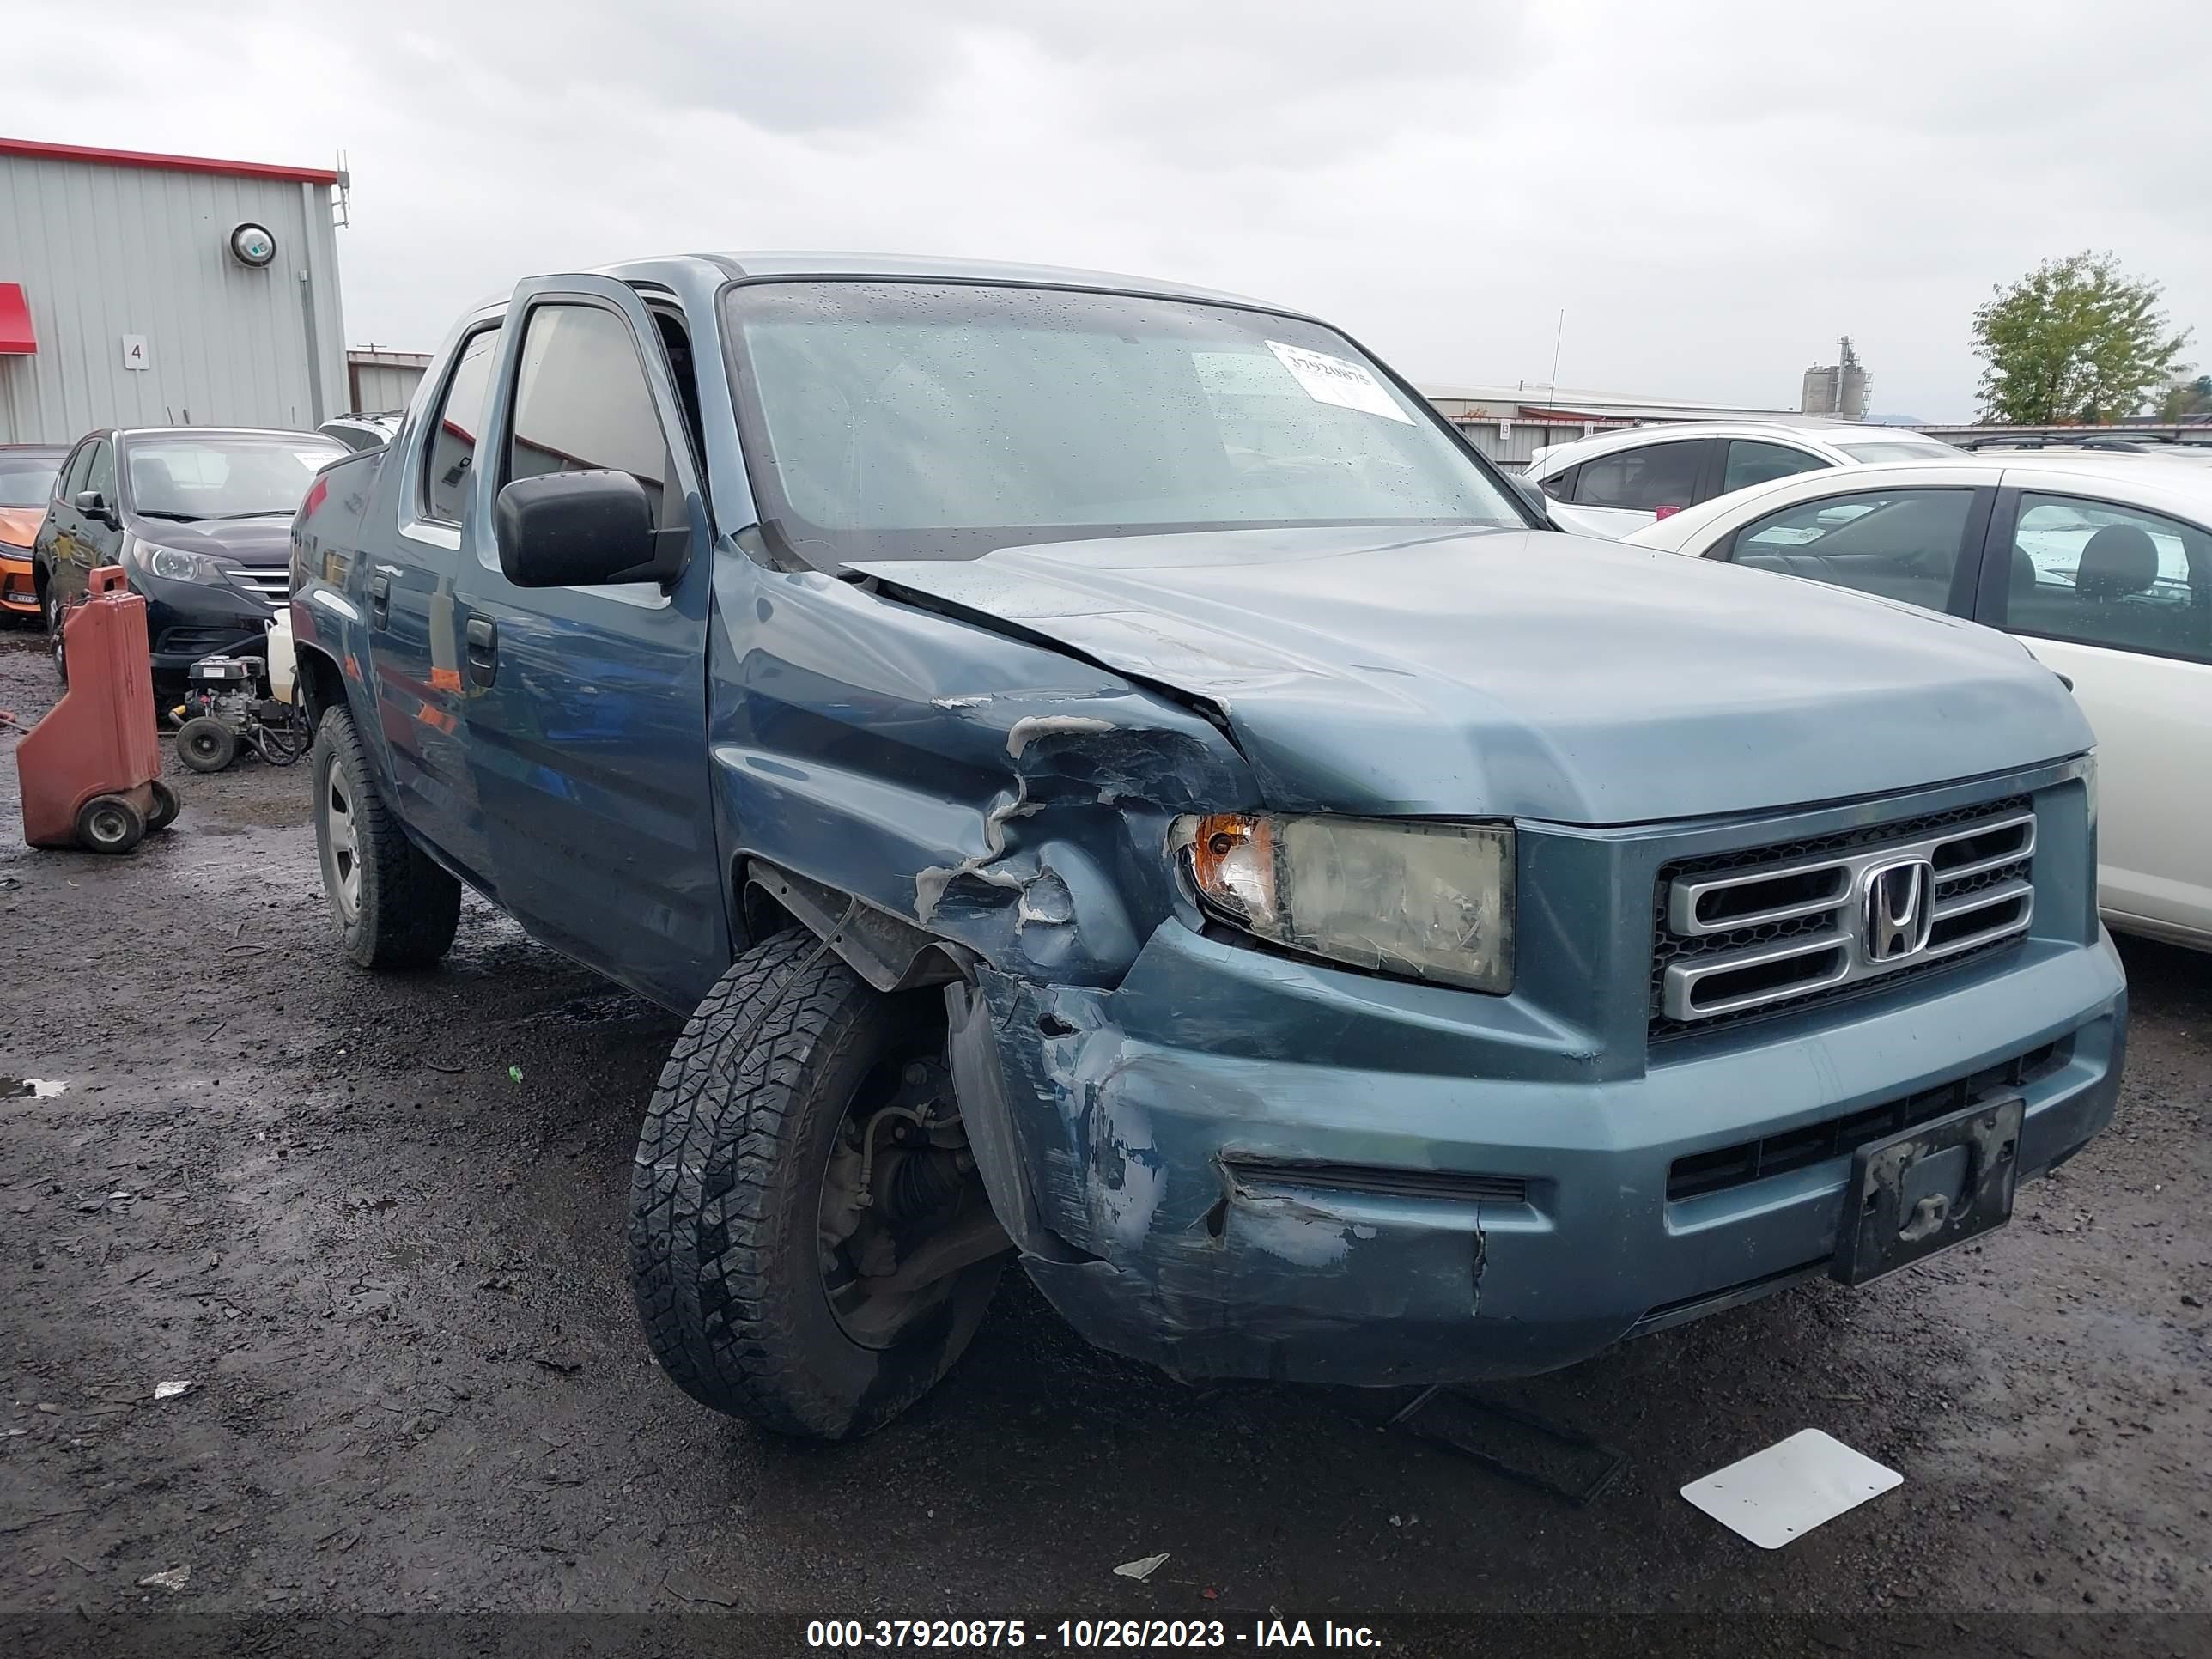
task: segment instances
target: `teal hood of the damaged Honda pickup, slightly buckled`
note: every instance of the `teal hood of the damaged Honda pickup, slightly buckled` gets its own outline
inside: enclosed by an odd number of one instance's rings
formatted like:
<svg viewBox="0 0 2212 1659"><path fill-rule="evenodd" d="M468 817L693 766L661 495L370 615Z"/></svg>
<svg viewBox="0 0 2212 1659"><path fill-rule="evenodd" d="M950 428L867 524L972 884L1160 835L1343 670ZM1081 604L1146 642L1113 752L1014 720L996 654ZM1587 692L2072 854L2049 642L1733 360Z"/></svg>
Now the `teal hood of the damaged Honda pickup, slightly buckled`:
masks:
<svg viewBox="0 0 2212 1659"><path fill-rule="evenodd" d="M2095 741L2002 633L1546 531L1172 533L854 568L1203 699L1290 810L1648 823Z"/></svg>

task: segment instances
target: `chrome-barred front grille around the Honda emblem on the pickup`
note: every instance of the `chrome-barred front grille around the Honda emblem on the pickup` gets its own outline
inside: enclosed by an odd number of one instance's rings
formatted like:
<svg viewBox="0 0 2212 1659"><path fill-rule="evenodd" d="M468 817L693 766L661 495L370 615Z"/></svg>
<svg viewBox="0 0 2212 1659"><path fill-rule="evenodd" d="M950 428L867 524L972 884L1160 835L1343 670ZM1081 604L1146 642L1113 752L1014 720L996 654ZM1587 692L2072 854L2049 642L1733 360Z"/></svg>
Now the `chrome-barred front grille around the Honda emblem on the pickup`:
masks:
<svg viewBox="0 0 2212 1659"><path fill-rule="evenodd" d="M2026 796L1659 872L1650 1031L1703 1031L1995 949L2028 931ZM1880 960L1869 887L1920 865L1907 949ZM1880 931L1880 929L1876 929Z"/></svg>

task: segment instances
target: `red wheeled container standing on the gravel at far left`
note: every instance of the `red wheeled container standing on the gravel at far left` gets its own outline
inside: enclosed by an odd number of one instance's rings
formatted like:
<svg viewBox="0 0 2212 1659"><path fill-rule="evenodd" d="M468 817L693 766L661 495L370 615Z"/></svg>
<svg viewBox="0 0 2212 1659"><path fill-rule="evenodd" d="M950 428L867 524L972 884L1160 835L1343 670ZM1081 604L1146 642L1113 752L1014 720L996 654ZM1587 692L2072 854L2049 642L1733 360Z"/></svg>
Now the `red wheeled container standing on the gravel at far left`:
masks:
<svg viewBox="0 0 2212 1659"><path fill-rule="evenodd" d="M69 690L15 745L22 838L33 847L131 852L177 816L146 672L146 602L115 566L62 622Z"/></svg>

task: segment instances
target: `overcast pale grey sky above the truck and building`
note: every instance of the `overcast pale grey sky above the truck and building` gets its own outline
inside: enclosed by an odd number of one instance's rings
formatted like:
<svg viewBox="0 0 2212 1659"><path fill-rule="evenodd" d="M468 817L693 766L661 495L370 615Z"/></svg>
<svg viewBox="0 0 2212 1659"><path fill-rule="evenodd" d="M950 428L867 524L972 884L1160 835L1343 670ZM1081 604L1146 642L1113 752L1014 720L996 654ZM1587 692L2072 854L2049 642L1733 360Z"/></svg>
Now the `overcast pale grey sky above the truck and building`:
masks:
<svg viewBox="0 0 2212 1659"><path fill-rule="evenodd" d="M1314 310L1422 383L1787 407L1851 334L1964 418L2046 254L2212 363L2212 7L2079 0L376 0L13 9L0 128L327 164L356 345L719 248L1097 265Z"/></svg>

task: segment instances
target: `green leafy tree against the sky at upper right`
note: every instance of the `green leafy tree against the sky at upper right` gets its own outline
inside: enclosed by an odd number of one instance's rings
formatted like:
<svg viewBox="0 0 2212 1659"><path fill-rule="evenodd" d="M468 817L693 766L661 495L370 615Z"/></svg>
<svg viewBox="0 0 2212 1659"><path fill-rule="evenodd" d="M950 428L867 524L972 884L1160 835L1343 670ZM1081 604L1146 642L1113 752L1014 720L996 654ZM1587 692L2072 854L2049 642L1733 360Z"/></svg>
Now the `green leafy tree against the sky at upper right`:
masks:
<svg viewBox="0 0 2212 1659"><path fill-rule="evenodd" d="M2168 334L2163 290L2112 254L2046 259L1973 312L1982 420L2106 425L2166 387L2188 330Z"/></svg>

